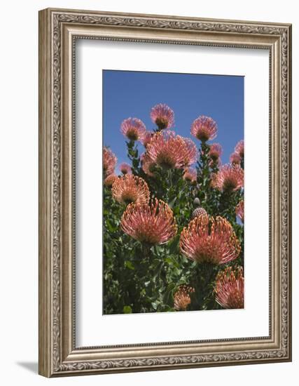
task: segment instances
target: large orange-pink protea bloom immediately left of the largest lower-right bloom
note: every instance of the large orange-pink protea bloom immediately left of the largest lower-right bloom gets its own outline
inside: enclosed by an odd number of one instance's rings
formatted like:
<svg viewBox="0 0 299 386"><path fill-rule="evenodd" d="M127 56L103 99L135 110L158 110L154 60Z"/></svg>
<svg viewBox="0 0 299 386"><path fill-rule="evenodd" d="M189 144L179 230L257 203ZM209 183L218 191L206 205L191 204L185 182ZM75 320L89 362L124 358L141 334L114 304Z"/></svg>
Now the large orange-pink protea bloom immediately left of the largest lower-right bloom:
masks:
<svg viewBox="0 0 299 386"><path fill-rule="evenodd" d="M120 227L133 239L149 246L164 244L177 232L172 209L162 200L150 204L130 204L123 213Z"/></svg>

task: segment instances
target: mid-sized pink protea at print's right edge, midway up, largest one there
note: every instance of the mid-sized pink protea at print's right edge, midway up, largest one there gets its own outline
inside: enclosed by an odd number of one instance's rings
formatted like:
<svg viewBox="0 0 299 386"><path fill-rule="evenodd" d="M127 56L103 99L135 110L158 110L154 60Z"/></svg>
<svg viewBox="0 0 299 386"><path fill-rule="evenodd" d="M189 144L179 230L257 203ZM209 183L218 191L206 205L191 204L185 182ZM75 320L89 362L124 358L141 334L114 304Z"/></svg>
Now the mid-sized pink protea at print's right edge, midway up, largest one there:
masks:
<svg viewBox="0 0 299 386"><path fill-rule="evenodd" d="M211 176L211 186L232 192L244 186L244 171L239 165L225 164Z"/></svg>

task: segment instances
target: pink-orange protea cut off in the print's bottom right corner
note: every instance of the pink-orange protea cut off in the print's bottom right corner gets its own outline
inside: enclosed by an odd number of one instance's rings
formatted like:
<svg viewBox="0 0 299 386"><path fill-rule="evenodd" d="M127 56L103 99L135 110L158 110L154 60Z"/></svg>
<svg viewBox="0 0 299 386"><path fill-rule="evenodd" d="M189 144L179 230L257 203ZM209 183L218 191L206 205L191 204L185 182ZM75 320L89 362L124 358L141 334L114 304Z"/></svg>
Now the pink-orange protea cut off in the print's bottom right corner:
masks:
<svg viewBox="0 0 299 386"><path fill-rule="evenodd" d="M216 302L223 308L244 308L244 277L242 267L227 267L216 277Z"/></svg>

